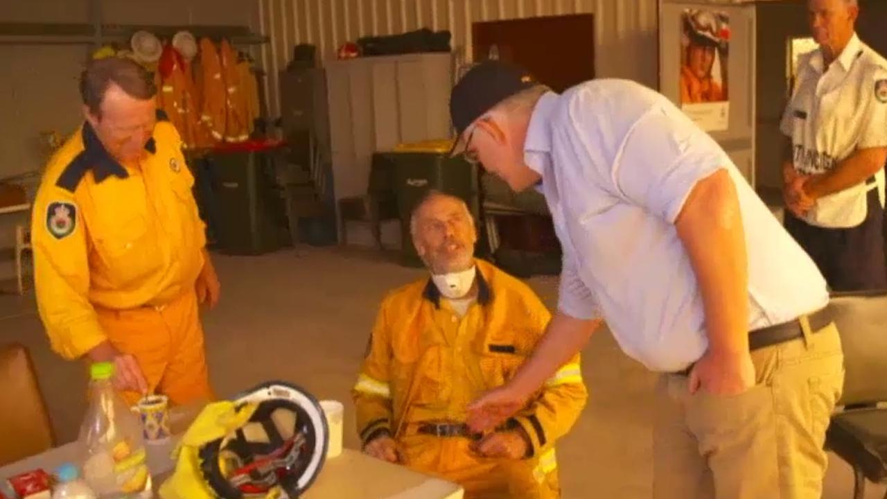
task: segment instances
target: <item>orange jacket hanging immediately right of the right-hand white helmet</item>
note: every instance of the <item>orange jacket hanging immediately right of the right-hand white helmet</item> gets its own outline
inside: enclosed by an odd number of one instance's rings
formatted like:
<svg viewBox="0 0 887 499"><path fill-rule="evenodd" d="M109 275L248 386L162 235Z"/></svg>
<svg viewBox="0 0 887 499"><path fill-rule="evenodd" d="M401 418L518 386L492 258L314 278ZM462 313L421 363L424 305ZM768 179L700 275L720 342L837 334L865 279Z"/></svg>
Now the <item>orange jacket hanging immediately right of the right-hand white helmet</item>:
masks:
<svg viewBox="0 0 887 499"><path fill-rule="evenodd" d="M224 140L227 114L222 61L216 45L200 38L200 125L216 143Z"/></svg>

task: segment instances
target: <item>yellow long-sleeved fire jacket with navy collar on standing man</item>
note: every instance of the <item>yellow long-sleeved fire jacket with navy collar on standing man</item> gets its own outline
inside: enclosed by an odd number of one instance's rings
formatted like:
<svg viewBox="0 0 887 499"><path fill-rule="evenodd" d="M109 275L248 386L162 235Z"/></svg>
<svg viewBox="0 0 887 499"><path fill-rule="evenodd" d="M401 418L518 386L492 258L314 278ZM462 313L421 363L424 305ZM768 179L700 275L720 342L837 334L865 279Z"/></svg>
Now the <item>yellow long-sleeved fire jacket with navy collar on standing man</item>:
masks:
<svg viewBox="0 0 887 499"><path fill-rule="evenodd" d="M38 310L63 357L106 340L95 307L165 305L193 289L206 237L181 147L161 120L132 169L84 123L47 165L31 240Z"/></svg>

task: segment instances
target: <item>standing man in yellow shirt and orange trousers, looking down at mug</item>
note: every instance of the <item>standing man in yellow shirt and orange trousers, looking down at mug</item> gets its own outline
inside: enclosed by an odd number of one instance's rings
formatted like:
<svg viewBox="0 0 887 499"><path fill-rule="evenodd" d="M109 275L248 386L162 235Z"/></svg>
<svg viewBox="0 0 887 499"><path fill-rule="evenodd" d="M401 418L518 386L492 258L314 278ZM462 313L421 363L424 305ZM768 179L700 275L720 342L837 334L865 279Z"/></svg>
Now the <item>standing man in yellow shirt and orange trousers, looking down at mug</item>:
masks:
<svg viewBox="0 0 887 499"><path fill-rule="evenodd" d="M86 121L53 155L32 219L35 286L52 349L115 364L130 403L212 399L198 305L219 282L182 140L130 59L90 61Z"/></svg>

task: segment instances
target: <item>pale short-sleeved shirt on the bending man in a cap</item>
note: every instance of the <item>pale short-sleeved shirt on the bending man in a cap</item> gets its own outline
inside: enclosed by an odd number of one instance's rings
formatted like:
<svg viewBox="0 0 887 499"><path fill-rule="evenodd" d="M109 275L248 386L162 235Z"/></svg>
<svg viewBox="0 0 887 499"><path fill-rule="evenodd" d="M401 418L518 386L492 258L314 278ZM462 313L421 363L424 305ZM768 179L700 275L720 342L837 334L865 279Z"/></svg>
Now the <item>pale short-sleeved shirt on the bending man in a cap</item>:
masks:
<svg viewBox="0 0 887 499"><path fill-rule="evenodd" d="M624 352L677 371L708 347L703 299L675 219L696 182L726 169L749 257L748 327L828 303L826 282L733 162L671 101L638 83L594 80L538 101L524 145L542 175L561 246L558 307L607 321Z"/></svg>

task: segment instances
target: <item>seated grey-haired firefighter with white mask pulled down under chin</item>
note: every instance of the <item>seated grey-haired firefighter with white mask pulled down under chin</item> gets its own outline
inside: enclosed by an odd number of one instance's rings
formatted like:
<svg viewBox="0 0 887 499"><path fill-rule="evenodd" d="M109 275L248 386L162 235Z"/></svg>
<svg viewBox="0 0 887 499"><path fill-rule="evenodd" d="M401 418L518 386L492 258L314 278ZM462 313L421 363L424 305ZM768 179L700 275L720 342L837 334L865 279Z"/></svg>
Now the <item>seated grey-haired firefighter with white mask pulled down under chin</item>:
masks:
<svg viewBox="0 0 887 499"><path fill-rule="evenodd" d="M365 453L459 483L469 498L560 496L554 443L587 399L578 356L506 424L471 432L468 403L514 375L550 314L527 285L475 260L458 198L429 194L410 229L431 276L381 304L352 392Z"/></svg>

